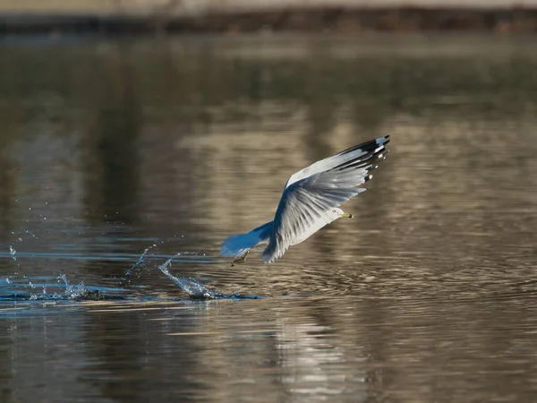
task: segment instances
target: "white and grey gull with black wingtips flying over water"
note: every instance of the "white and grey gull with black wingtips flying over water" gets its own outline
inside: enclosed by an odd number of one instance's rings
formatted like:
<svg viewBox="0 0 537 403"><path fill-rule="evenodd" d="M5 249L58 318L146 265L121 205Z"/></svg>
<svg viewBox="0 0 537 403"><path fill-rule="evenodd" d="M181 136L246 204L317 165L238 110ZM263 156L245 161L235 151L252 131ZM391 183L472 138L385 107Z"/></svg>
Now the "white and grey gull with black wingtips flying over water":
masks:
<svg viewBox="0 0 537 403"><path fill-rule="evenodd" d="M289 246L300 244L320 228L353 215L339 208L341 203L365 192L358 186L371 180L370 171L386 159L389 135L365 141L332 157L321 159L287 180L274 220L246 234L228 236L221 255L233 256L231 266L246 261L251 248L268 245L260 254L265 263L280 258Z"/></svg>

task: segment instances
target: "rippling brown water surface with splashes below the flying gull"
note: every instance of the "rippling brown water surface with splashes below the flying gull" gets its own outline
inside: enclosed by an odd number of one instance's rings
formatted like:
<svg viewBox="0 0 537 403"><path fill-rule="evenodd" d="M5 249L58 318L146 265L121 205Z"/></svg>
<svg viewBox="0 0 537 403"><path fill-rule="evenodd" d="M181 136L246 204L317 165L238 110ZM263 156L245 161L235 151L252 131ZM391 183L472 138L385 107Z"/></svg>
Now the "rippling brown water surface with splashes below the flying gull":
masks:
<svg viewBox="0 0 537 403"><path fill-rule="evenodd" d="M533 38L0 47L0 401L533 401ZM217 256L386 134L355 219Z"/></svg>

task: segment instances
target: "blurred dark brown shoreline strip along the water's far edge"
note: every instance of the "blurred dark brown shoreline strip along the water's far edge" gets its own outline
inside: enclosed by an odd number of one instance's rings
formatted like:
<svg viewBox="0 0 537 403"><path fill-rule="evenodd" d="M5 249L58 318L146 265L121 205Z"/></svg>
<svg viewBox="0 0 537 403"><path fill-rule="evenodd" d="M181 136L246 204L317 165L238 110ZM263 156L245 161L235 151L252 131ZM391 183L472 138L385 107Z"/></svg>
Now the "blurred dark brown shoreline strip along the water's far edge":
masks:
<svg viewBox="0 0 537 403"><path fill-rule="evenodd" d="M343 2L345 3L345 2ZM433 2L435 3L435 2ZM229 34L297 32L537 32L537 2L524 7L479 6L347 6L208 8L192 11L183 2L149 9L39 9L0 5L0 36L33 34ZM383 2L379 2L383 4ZM507 3L506 3L507 4ZM166 7L167 5L167 7ZM183 11L182 11L183 10Z"/></svg>

